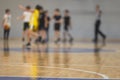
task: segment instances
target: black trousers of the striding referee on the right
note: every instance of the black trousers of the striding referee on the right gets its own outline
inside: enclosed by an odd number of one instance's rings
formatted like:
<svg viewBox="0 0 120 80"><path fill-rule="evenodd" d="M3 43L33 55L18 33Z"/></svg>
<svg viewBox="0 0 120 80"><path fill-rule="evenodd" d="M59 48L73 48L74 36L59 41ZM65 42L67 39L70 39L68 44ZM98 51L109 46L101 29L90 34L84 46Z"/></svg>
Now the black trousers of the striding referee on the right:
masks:
<svg viewBox="0 0 120 80"><path fill-rule="evenodd" d="M103 39L106 38L106 35L102 33L102 31L100 30L100 26L101 26L101 21L100 20L97 20L96 23L95 23L95 41L98 41L98 35L100 34L101 37Z"/></svg>

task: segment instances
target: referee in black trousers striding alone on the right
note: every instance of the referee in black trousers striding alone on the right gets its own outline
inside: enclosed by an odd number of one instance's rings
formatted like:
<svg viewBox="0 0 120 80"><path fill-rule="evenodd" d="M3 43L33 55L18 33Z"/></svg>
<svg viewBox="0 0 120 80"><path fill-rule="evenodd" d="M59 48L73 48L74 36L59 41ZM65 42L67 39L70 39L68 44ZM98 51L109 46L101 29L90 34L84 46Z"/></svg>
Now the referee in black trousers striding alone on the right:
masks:
<svg viewBox="0 0 120 80"><path fill-rule="evenodd" d="M105 41L105 39L106 39L106 35L103 34L100 30L101 16L102 16L102 11L100 10L100 6L96 5L96 22L95 22L94 42L98 42L98 34L100 34L103 37L103 41Z"/></svg>

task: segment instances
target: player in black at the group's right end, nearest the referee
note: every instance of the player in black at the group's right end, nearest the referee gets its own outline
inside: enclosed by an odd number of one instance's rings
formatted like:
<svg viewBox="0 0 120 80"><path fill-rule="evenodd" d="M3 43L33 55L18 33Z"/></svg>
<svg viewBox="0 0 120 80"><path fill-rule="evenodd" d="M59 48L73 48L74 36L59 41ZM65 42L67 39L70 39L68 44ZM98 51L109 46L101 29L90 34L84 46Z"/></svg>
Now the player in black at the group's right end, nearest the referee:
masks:
<svg viewBox="0 0 120 80"><path fill-rule="evenodd" d="M64 11L64 42L66 42L66 37L69 37L69 42L73 41L72 35L69 33L71 27L71 17L69 15L69 10Z"/></svg>

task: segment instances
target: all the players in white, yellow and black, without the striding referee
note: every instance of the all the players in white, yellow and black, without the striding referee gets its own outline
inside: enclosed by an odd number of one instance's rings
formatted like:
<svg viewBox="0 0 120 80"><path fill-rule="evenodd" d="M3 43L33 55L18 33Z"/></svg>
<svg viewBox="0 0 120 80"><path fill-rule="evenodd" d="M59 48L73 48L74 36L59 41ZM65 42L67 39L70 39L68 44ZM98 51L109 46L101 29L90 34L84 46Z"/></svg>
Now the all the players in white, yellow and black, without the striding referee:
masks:
<svg viewBox="0 0 120 80"><path fill-rule="evenodd" d="M69 33L69 28L71 27L71 18L69 15L69 10L64 11L64 17L61 16L59 9L55 9L53 17L49 17L48 11L45 11L41 5L36 5L35 9L31 9L30 6L19 5L19 9L23 11L23 15L18 17L18 20L23 20L23 38L25 41L27 38L26 46L31 45L31 40L34 39L35 43L47 43L49 41L49 25L50 21L54 20L54 35L55 43L61 41L60 38L60 29L61 24L64 24L64 39L65 42L66 36L69 36L69 42L73 41L73 37ZM4 39L8 39L9 31L11 26L11 14L10 10L6 9L3 21L4 26Z"/></svg>

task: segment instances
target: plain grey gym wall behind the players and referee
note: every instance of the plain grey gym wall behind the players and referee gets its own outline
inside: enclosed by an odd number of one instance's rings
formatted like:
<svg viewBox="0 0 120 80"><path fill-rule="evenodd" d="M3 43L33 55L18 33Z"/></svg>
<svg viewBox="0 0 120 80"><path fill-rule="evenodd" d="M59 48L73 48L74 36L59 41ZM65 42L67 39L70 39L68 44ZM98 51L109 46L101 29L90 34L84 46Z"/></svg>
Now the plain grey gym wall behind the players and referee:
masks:
<svg viewBox="0 0 120 80"><path fill-rule="evenodd" d="M11 9L12 28L11 38L21 38L23 22L16 18L22 14L18 5L24 6L42 5L49 10L52 17L55 8L60 8L61 13L69 9L72 17L73 30L71 33L77 39L92 39L94 37L95 6L99 4L103 10L101 30L108 39L120 39L120 0L0 0L0 23L2 23L4 10ZM63 26L61 27L62 31ZM53 21L50 24L50 37L53 38ZM2 26L0 27L0 38L3 36ZM61 34L62 37L62 34Z"/></svg>

